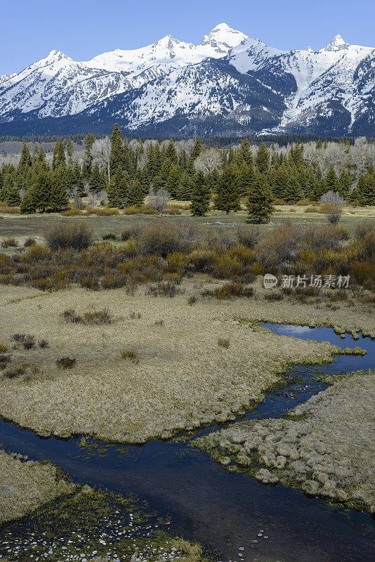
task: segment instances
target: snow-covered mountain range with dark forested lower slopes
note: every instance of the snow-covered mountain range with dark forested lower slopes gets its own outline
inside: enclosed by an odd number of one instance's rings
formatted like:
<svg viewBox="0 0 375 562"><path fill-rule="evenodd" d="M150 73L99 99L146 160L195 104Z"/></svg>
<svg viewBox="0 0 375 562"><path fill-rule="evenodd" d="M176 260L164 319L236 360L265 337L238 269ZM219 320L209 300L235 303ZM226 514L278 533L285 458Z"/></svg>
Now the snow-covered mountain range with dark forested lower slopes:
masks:
<svg viewBox="0 0 375 562"><path fill-rule="evenodd" d="M60 51L0 76L0 134L375 136L375 48L340 35L282 51L225 23L77 62Z"/></svg>

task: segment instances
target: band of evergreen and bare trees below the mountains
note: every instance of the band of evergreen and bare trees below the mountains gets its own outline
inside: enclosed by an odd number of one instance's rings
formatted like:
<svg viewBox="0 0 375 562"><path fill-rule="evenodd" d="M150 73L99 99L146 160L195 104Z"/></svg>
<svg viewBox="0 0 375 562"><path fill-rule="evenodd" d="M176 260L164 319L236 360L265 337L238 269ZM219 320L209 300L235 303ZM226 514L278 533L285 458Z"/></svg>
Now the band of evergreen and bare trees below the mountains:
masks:
<svg viewBox="0 0 375 562"><path fill-rule="evenodd" d="M229 213L246 201L249 220L268 220L275 202L319 201L329 191L357 205L375 204L374 144L365 139L316 141L287 147L251 145L231 148L190 141L137 141L124 138L118 125L109 138L84 138L74 151L72 139L59 139L52 158L41 148L22 145L18 163L0 169L0 201L22 213L61 211L70 200L90 195L109 207L140 207L150 192L191 202L204 216L213 200Z"/></svg>

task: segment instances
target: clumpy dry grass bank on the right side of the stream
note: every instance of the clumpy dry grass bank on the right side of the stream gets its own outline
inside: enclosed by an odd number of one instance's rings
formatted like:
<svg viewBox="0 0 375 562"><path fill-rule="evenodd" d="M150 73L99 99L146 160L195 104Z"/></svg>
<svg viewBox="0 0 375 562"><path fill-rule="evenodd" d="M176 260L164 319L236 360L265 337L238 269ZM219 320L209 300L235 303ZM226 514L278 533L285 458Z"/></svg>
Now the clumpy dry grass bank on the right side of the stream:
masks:
<svg viewBox="0 0 375 562"><path fill-rule="evenodd" d="M243 421L196 443L264 483L375 514L375 371L327 379L333 386L291 410L290 419Z"/></svg>

